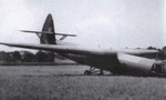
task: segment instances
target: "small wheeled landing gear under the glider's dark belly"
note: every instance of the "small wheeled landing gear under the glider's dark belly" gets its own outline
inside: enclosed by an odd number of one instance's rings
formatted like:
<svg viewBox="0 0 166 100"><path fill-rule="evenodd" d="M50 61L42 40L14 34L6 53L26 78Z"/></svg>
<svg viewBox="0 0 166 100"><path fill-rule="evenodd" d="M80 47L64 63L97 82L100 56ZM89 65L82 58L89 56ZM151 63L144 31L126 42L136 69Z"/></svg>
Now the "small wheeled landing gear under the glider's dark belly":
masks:
<svg viewBox="0 0 166 100"><path fill-rule="evenodd" d="M91 67L90 70L85 70L85 71L84 71L84 74L85 74L85 76L91 76L91 74L103 76L104 72L103 72L103 70L101 70L101 69L100 69L100 70L95 70L94 67Z"/></svg>

